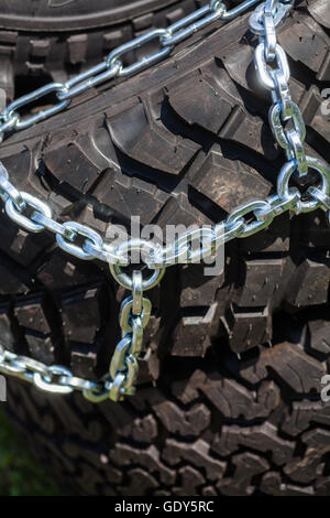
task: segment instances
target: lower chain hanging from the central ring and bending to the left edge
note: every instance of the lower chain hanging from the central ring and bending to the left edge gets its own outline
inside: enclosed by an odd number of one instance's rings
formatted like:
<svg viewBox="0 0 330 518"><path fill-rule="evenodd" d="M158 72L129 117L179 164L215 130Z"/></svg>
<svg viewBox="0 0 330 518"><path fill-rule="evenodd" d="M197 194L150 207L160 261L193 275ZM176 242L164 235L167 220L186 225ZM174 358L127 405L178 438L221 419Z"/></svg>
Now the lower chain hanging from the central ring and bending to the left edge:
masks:
<svg viewBox="0 0 330 518"><path fill-rule="evenodd" d="M100 381L78 378L62 365L47 366L26 356L6 350L0 345L0 373L28 381L34 387L51 393L67 395L74 390L82 392L91 402L106 399L121 401L125 396L135 392L136 379L143 344L143 330L147 325L152 304L143 298L143 280L141 271L134 271L132 278L132 296L121 305L120 326L122 339L113 353L109 374Z"/></svg>

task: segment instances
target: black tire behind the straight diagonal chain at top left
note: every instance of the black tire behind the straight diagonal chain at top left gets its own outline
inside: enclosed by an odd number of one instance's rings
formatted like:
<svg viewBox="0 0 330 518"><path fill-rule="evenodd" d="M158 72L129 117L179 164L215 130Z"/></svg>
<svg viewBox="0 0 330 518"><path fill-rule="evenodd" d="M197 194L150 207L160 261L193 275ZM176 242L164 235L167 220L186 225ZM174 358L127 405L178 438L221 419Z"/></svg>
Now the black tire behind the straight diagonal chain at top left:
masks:
<svg viewBox="0 0 330 518"><path fill-rule="evenodd" d="M206 1L0 2L0 87L12 100L50 80L65 82L100 63L114 47L153 26L167 26ZM140 57L141 52L125 56L128 63Z"/></svg>

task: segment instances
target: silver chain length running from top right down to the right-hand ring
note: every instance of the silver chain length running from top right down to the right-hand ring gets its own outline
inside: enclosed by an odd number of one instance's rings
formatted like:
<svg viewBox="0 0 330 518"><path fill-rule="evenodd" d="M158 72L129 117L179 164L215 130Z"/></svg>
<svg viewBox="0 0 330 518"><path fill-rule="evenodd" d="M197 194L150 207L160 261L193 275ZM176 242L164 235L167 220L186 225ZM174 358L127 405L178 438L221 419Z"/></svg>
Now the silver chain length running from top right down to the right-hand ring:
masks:
<svg viewBox="0 0 330 518"><path fill-rule="evenodd" d="M272 93L270 125L280 148L285 150L287 163L277 179L277 194L288 194L288 183L293 175L304 176L309 169L319 173L321 187L310 187L305 199L299 199L295 212L306 213L322 208L329 216L329 168L319 159L308 157L304 148L306 126L299 107L293 101L289 78L290 69L284 48L276 37L276 29L284 22L293 8L294 0L266 0L250 18L250 29L258 35L255 50L255 68L262 85Z"/></svg>

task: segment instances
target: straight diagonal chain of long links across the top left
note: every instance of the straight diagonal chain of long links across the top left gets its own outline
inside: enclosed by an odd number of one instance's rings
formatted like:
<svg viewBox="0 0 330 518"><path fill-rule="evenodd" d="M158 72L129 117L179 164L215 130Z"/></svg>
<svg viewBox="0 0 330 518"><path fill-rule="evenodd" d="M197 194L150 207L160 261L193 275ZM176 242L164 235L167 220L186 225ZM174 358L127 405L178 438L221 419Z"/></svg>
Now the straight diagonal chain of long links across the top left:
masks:
<svg viewBox="0 0 330 518"><path fill-rule="evenodd" d="M168 56L178 43L183 42L195 32L200 31L216 20L233 20L251 7L260 3L260 1L261 0L245 0L234 9L228 11L223 1L211 0L207 6L170 24L166 29L153 29L131 42L120 45L114 48L103 62L68 79L66 83L51 83L31 94L20 97L11 102L3 114L0 115L0 139L10 130L29 128L36 122L58 114L67 108L74 97L90 88L116 77L132 76L158 63ZM145 55L131 65L124 65L125 54L136 51L152 41L158 42L160 48L157 51ZM57 102L26 118L21 117L20 108L29 107L32 102L50 94L54 94L57 97Z"/></svg>

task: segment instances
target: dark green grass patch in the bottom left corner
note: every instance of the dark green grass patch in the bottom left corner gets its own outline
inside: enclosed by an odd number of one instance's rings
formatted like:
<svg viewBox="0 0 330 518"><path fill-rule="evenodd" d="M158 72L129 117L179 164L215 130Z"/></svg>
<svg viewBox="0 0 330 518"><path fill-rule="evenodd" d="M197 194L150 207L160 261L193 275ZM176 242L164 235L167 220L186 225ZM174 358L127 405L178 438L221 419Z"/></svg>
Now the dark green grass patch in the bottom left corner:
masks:
<svg viewBox="0 0 330 518"><path fill-rule="evenodd" d="M55 482L32 458L0 408L0 496L59 495Z"/></svg>

